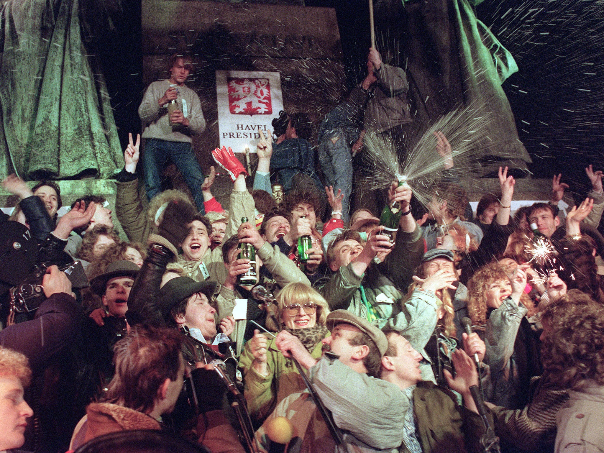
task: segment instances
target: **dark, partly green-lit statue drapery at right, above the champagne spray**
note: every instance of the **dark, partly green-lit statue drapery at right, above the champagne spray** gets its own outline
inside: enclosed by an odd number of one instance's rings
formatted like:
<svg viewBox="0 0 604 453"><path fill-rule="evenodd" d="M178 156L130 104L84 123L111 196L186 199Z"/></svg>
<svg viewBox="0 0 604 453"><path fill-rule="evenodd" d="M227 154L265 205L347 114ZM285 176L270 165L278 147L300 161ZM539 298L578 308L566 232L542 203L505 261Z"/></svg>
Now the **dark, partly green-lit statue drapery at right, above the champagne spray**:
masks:
<svg viewBox="0 0 604 453"><path fill-rule="evenodd" d="M525 168L523 162L531 158L518 140L501 88L518 66L476 18L474 5L481 1L375 0L376 27L394 36L400 48L400 62L410 79L408 95L417 109L414 129L423 133L458 106L484 103L491 114L484 125L489 140L477 143L475 156L484 163L513 159L513 168Z"/></svg>

